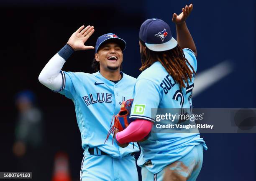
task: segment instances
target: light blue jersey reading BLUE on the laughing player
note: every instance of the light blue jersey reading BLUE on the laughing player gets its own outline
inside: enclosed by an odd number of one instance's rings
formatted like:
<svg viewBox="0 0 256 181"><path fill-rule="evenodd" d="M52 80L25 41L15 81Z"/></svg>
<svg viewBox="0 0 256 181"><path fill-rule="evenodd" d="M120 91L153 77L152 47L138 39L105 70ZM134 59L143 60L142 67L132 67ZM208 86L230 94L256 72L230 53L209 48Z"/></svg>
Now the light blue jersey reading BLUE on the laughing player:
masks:
<svg viewBox="0 0 256 181"><path fill-rule="evenodd" d="M88 154L89 147L97 147L113 158L122 158L139 151L137 144L134 149L133 144L126 148L121 148L115 142L112 144L112 141L104 144L112 116L120 111L119 103L124 97L126 100L132 98L135 78L121 72L123 78L115 84L104 78L100 72L88 74L61 71L61 74L63 87L60 93L74 102L84 154Z"/></svg>

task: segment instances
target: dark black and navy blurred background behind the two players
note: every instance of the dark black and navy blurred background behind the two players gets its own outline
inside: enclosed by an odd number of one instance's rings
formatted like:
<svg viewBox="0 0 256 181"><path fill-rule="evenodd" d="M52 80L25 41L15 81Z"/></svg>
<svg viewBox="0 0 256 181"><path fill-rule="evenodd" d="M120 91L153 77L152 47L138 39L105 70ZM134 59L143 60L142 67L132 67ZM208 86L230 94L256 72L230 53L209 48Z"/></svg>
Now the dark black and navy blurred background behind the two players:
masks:
<svg viewBox="0 0 256 181"><path fill-rule="evenodd" d="M41 69L78 27L94 25L95 33L88 45L95 46L97 37L107 32L117 34L127 42L123 72L137 77L141 23L147 18L160 18L169 22L176 37L172 14L180 13L189 3L193 3L194 10L187 25L198 51L194 107L255 108L255 0L1 0L0 171L33 171L33 180L50 181L54 156L62 151L69 157L72 181L78 181L82 148L74 105L38 82ZM92 73L93 56L94 50L76 52L64 70ZM43 124L41 146L32 151L28 148L25 153L26 161L36 164L30 170L20 164L25 157L13 152L19 114L15 95L25 89L37 97L35 103L41 109ZM208 151L204 152L198 181L256 180L256 134L202 137Z"/></svg>

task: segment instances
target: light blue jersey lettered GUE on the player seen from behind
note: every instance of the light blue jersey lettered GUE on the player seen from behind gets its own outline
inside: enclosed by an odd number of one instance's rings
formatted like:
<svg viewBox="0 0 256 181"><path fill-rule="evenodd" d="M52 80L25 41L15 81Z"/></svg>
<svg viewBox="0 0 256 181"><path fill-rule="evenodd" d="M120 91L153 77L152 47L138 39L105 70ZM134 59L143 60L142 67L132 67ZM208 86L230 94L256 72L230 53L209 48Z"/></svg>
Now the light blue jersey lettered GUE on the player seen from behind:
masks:
<svg viewBox="0 0 256 181"><path fill-rule="evenodd" d="M197 60L194 53L189 49L183 49L183 51L196 71ZM130 119L146 119L155 122L155 118L151 117L151 108L192 108L193 85L194 77L189 82L189 86L180 91L179 84L174 81L161 63L155 62L137 78ZM203 144L203 147L207 149L199 133L151 132L148 139L140 143L141 155L137 164L143 166L146 161L151 160L153 166L146 166L146 168L156 174L165 166L181 159L198 144Z"/></svg>

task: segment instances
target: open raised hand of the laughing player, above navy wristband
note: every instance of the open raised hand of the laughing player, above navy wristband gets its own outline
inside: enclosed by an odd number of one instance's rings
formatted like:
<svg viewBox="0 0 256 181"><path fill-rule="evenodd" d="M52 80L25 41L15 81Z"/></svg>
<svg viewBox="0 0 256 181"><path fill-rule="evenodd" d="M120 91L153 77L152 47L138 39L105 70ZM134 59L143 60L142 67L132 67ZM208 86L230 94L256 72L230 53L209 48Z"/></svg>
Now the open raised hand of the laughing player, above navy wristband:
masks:
<svg viewBox="0 0 256 181"><path fill-rule="evenodd" d="M84 43L94 32L93 28L93 26L87 26L84 28L84 25L82 25L76 32L71 35L67 44L71 46L75 51L94 49L92 46L84 45Z"/></svg>

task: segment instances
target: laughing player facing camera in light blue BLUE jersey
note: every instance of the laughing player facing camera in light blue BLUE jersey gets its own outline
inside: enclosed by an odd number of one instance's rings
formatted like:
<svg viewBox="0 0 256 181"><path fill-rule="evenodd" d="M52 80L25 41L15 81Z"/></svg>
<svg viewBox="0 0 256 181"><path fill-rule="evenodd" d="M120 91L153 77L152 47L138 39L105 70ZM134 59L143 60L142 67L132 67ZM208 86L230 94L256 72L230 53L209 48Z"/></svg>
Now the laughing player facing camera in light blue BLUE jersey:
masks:
<svg viewBox="0 0 256 181"><path fill-rule="evenodd" d="M80 27L41 71L38 79L54 92L59 92L74 102L77 124L81 132L82 159L81 181L138 180L134 152L138 145L126 148L104 144L113 114L120 105L132 98L136 79L120 72L126 43L113 33L98 37L93 67L100 71L93 74L64 72L62 67L73 52L93 49L84 45L94 32L93 26Z"/></svg>

